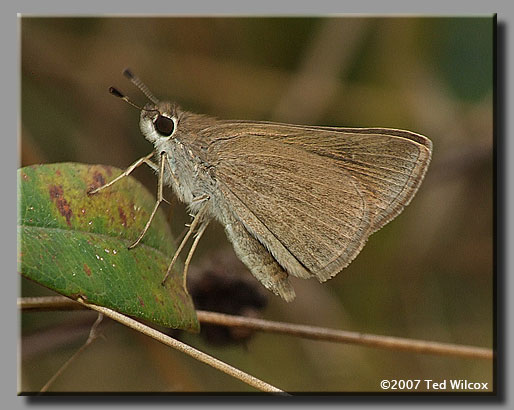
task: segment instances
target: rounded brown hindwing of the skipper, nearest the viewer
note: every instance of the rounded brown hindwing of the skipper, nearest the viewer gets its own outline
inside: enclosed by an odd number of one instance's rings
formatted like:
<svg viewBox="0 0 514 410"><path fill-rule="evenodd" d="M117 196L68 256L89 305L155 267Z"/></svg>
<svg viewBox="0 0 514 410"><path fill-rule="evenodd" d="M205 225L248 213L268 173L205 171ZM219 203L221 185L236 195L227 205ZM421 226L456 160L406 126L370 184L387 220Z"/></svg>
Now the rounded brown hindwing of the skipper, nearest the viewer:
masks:
<svg viewBox="0 0 514 410"><path fill-rule="evenodd" d="M261 135L219 139L209 150L234 214L289 273L326 280L361 250L368 199L337 160Z"/></svg>

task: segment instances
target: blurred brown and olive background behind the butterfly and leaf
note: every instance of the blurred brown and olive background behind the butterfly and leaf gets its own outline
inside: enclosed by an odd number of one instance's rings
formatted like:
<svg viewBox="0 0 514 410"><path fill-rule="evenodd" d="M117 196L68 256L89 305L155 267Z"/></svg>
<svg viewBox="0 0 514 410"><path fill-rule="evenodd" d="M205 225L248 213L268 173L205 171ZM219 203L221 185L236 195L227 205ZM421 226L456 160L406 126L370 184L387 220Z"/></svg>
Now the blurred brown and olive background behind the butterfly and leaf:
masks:
<svg viewBox="0 0 514 410"><path fill-rule="evenodd" d="M158 98L223 119L380 126L428 136L433 160L418 194L337 277L324 284L293 278L297 298L286 303L233 268L223 229L211 224L193 258L193 285L217 278L207 287L214 300L202 308L241 299L241 286L230 294L225 283L240 277L255 286L258 302L246 309L242 301L239 313L492 347L492 17L22 17L19 23L20 166L72 161L125 168L149 153L139 112L107 92L116 86L147 102L121 75L125 67ZM155 192L150 170L133 175ZM188 221L183 208L174 199L163 210L180 233ZM51 294L25 279L21 293ZM92 312L23 314L20 390L38 391L84 343L94 320ZM380 391L386 378L492 382L487 360L266 333L241 340L212 334L174 333L287 391ZM253 391L121 325L106 326L103 335L50 391Z"/></svg>

